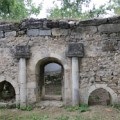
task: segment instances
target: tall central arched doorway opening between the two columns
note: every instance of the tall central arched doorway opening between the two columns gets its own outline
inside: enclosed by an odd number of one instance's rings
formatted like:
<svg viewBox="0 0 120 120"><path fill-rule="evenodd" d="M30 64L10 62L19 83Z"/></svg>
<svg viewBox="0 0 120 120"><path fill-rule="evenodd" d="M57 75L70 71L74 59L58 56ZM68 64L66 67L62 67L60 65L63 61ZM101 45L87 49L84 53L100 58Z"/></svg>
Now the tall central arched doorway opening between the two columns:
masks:
<svg viewBox="0 0 120 120"><path fill-rule="evenodd" d="M36 65L38 100L62 100L64 69L60 60L47 57Z"/></svg>

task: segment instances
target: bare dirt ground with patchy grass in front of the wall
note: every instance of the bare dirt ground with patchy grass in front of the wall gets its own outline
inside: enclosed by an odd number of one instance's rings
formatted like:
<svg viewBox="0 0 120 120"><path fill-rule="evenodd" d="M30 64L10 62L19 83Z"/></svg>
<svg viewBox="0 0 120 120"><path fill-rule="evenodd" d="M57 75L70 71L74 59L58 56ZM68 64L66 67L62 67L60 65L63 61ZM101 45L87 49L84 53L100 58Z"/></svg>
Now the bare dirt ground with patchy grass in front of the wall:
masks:
<svg viewBox="0 0 120 120"><path fill-rule="evenodd" d="M34 108L32 111L0 109L0 120L120 120L120 111L108 106L91 106L86 112L64 107Z"/></svg>

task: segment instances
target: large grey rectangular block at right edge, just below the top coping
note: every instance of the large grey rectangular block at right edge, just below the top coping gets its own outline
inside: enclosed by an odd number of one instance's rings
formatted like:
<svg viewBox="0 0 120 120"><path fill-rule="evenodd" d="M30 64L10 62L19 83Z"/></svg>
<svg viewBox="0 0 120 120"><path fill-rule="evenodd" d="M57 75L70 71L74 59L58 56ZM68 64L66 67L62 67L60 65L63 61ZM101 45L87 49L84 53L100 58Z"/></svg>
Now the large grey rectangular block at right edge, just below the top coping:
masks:
<svg viewBox="0 0 120 120"><path fill-rule="evenodd" d="M101 33L120 32L120 24L103 24L98 26L98 31Z"/></svg>

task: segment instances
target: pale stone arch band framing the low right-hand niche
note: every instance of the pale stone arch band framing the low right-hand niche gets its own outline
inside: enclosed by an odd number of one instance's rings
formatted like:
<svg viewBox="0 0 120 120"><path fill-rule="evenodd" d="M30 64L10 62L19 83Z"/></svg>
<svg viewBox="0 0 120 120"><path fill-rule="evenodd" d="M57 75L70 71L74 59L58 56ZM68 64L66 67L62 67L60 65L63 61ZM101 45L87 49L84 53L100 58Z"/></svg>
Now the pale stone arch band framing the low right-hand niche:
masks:
<svg viewBox="0 0 120 120"><path fill-rule="evenodd" d="M110 87L108 87L107 84L95 84L95 85L90 86L90 88L88 89L88 95L87 95L87 101L86 101L87 104L88 104L90 94L96 89L100 89L100 88L103 88L110 94L111 104L115 104L118 102L117 94Z"/></svg>

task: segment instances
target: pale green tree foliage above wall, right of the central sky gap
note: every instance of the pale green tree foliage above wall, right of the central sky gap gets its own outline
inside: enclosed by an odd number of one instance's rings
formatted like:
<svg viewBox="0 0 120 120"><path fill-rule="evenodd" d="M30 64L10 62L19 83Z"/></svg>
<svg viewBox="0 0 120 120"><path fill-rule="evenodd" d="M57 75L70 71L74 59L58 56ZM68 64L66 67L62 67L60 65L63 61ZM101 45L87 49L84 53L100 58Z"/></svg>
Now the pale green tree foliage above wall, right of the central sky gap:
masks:
<svg viewBox="0 0 120 120"><path fill-rule="evenodd" d="M106 5L101 5L96 8L95 5L91 9L89 8L91 0L63 0L61 7L57 5L55 8L49 10L48 18L80 18L89 19L99 17L106 14ZM85 10L85 9L88 10Z"/></svg>

